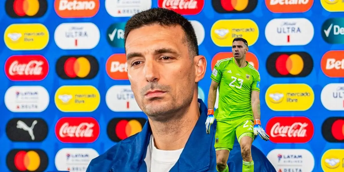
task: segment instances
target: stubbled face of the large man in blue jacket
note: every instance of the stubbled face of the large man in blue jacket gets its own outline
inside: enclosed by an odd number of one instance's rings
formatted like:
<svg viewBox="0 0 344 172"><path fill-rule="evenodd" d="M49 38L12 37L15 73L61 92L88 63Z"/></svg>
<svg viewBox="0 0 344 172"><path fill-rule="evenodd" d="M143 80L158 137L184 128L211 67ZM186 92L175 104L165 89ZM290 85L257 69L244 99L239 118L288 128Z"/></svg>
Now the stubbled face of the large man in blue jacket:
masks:
<svg viewBox="0 0 344 172"><path fill-rule="evenodd" d="M131 89L152 120L169 120L169 114L189 106L193 99L196 70L184 36L181 26L154 24L132 30L127 37Z"/></svg>

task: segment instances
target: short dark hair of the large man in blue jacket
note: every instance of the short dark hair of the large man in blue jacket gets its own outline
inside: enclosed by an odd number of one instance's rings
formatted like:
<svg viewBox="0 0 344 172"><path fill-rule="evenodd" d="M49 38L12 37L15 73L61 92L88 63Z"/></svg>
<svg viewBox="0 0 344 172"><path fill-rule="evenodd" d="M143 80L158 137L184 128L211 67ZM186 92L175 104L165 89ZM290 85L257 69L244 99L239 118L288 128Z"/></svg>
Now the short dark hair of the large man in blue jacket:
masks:
<svg viewBox="0 0 344 172"><path fill-rule="evenodd" d="M191 22L182 15L164 8L151 8L133 15L124 29L124 44L130 31L152 24L160 24L161 26L180 25L185 32L183 42L187 43L189 52L192 55L198 55L197 37Z"/></svg>

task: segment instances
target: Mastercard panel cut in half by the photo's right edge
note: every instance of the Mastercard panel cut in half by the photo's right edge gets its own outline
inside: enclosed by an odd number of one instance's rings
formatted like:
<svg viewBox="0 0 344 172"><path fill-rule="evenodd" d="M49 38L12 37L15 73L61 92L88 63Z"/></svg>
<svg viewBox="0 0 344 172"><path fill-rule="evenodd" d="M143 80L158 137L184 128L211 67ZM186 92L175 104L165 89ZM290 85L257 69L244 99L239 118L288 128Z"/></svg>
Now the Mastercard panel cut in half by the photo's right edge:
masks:
<svg viewBox="0 0 344 172"><path fill-rule="evenodd" d="M327 118L322 125L322 135L328 142L344 143L344 117Z"/></svg>

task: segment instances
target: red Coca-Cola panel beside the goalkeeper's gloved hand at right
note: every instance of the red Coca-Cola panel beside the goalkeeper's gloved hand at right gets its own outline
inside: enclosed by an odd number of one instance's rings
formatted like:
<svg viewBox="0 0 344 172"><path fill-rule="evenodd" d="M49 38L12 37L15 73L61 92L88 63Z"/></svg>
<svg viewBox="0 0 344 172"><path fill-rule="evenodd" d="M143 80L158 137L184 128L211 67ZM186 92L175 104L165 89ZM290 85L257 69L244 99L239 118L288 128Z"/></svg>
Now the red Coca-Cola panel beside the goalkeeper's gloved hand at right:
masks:
<svg viewBox="0 0 344 172"><path fill-rule="evenodd" d="M307 117L273 117L266 124L266 133L273 143L307 143L314 126Z"/></svg>

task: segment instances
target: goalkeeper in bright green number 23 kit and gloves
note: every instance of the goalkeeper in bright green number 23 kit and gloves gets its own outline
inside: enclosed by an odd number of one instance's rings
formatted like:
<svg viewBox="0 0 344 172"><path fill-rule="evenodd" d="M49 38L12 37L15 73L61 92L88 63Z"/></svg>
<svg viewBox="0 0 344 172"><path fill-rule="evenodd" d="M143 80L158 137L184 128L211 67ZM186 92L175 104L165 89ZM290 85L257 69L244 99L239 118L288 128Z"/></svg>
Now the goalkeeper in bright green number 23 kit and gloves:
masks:
<svg viewBox="0 0 344 172"><path fill-rule="evenodd" d="M215 133L216 170L228 172L229 152L237 137L243 157L243 172L253 172L251 145L254 136L269 140L260 123L260 75L246 61L248 44L245 39L235 38L232 52L233 57L218 61L211 74L206 132L210 132L210 125L214 122L214 105L219 87Z"/></svg>

